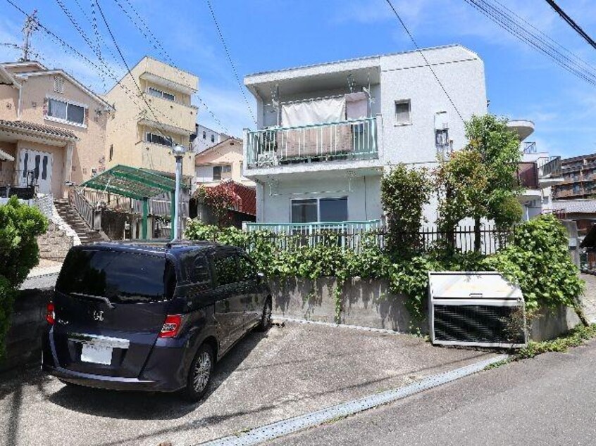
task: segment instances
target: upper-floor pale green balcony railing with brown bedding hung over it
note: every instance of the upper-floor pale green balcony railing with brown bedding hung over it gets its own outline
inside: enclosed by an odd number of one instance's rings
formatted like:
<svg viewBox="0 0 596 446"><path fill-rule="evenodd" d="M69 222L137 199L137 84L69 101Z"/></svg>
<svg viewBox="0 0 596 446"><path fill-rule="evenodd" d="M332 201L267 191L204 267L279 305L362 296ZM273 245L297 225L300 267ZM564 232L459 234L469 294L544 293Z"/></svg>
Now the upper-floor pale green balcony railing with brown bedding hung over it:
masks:
<svg viewBox="0 0 596 446"><path fill-rule="evenodd" d="M261 129L247 134L248 169L297 162L375 158L378 158L376 117Z"/></svg>

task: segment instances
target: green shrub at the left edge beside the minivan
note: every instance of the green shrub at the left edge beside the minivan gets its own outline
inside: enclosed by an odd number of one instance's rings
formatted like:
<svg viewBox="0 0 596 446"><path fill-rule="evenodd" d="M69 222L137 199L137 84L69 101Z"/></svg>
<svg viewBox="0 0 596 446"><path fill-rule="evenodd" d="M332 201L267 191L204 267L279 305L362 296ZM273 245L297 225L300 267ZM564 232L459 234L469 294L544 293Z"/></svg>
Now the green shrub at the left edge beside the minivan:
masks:
<svg viewBox="0 0 596 446"><path fill-rule="evenodd" d="M0 206L0 357L16 290L39 262L36 237L46 230L42 212L21 204L15 196Z"/></svg>

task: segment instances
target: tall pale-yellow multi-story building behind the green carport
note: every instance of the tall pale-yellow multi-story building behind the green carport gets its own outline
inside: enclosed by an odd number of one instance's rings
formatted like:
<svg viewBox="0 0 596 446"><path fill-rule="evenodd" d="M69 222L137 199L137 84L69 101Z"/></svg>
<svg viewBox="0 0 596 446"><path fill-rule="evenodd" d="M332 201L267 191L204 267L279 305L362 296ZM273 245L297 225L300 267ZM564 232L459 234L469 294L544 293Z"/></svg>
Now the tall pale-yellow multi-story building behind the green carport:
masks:
<svg viewBox="0 0 596 446"><path fill-rule="evenodd" d="M197 107L191 96L199 78L148 56L104 96L116 108L108 121L107 167L128 165L161 174L174 174L172 147L190 148ZM139 91L142 95L139 95ZM192 153L183 162L182 174L194 175Z"/></svg>

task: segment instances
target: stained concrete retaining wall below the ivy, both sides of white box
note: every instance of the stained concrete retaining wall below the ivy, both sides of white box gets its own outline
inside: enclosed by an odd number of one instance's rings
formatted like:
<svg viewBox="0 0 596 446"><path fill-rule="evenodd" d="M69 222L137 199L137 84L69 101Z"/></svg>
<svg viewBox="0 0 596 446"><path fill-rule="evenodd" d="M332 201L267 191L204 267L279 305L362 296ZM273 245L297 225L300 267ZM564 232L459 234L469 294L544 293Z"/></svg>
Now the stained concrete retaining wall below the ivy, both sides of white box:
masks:
<svg viewBox="0 0 596 446"><path fill-rule="evenodd" d="M273 313L309 321L335 322L336 281L325 277L316 281L287 279L271 281ZM342 290L342 324L390 329L402 333L428 333L428 321L415 321L406 308L406 295L393 295L387 281L352 279ZM533 340L552 339L580 323L568 307L542 309L528 328Z"/></svg>

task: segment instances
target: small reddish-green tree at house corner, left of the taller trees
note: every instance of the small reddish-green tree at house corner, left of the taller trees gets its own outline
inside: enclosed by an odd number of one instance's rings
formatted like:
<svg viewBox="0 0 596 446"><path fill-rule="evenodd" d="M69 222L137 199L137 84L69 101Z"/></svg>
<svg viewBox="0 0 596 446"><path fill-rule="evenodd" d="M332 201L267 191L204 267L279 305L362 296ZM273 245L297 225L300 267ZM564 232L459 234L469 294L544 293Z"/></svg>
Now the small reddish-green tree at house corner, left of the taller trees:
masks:
<svg viewBox="0 0 596 446"><path fill-rule="evenodd" d="M381 202L387 215L389 248L400 253L418 248L423 208L432 184L426 169L398 164L381 180Z"/></svg>

